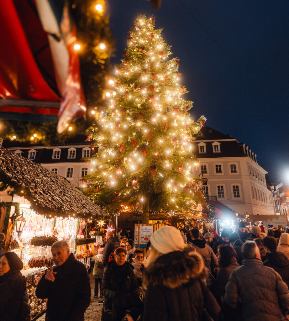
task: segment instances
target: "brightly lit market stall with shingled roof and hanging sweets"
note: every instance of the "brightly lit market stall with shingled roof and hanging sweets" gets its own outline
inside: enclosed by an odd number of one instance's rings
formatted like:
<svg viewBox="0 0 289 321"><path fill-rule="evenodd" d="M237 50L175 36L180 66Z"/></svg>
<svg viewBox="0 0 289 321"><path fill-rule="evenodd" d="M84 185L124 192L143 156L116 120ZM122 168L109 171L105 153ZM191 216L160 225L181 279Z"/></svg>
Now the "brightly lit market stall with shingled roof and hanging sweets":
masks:
<svg viewBox="0 0 289 321"><path fill-rule="evenodd" d="M35 289L53 265L51 244L65 239L74 251L78 224L109 215L65 178L4 147L0 147L0 208L5 249L17 253L24 264L33 319L46 309L46 300L38 299Z"/></svg>

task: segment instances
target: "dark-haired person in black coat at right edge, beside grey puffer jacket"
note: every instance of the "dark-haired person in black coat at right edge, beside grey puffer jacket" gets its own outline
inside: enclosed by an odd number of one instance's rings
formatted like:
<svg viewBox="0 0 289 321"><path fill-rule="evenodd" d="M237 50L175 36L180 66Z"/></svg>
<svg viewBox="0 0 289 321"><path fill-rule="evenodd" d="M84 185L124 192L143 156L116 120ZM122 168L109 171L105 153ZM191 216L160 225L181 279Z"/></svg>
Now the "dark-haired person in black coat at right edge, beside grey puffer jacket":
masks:
<svg viewBox="0 0 289 321"><path fill-rule="evenodd" d="M263 239L263 244L266 253L265 266L272 267L277 273L280 274L282 280L289 287L289 260L282 253L277 252L277 242L273 236L266 236Z"/></svg>

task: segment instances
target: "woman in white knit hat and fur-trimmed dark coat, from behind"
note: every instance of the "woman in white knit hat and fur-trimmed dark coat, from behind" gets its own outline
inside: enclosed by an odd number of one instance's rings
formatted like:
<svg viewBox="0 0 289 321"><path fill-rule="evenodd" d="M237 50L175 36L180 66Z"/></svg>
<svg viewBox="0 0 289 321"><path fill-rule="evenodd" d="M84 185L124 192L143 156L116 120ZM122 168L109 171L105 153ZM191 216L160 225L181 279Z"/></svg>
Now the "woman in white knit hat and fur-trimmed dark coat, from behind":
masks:
<svg viewBox="0 0 289 321"><path fill-rule="evenodd" d="M153 233L144 271L144 321L199 321L208 313L218 320L221 308L205 283L206 268L196 252L183 252L184 240L174 227ZM204 310L205 309L205 310Z"/></svg>

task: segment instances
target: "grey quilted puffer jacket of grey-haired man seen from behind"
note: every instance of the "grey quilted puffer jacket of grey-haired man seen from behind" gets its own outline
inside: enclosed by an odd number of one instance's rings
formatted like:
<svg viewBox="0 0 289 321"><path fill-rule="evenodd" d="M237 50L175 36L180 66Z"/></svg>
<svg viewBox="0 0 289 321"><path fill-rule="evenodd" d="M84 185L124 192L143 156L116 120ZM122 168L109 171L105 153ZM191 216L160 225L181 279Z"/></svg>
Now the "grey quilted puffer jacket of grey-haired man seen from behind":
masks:
<svg viewBox="0 0 289 321"><path fill-rule="evenodd" d="M281 276L259 259L243 260L242 263L232 272L226 285L225 302L237 308L241 299L244 321L285 320L289 292Z"/></svg>

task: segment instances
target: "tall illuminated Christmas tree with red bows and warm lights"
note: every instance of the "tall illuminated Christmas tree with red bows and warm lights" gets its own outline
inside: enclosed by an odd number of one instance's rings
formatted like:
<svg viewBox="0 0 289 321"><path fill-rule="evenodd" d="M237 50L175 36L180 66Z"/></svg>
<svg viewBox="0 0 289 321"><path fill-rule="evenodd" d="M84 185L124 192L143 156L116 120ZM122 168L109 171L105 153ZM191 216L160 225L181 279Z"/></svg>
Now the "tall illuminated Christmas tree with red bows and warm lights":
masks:
<svg viewBox="0 0 289 321"><path fill-rule="evenodd" d="M198 160L191 141L206 118L188 113L192 102L179 83L179 60L154 29L155 19L139 15L129 31L122 63L116 65L115 90L90 137L98 152L95 171L85 177L86 192L109 212L133 205L148 223L149 213L200 214L194 178Z"/></svg>

